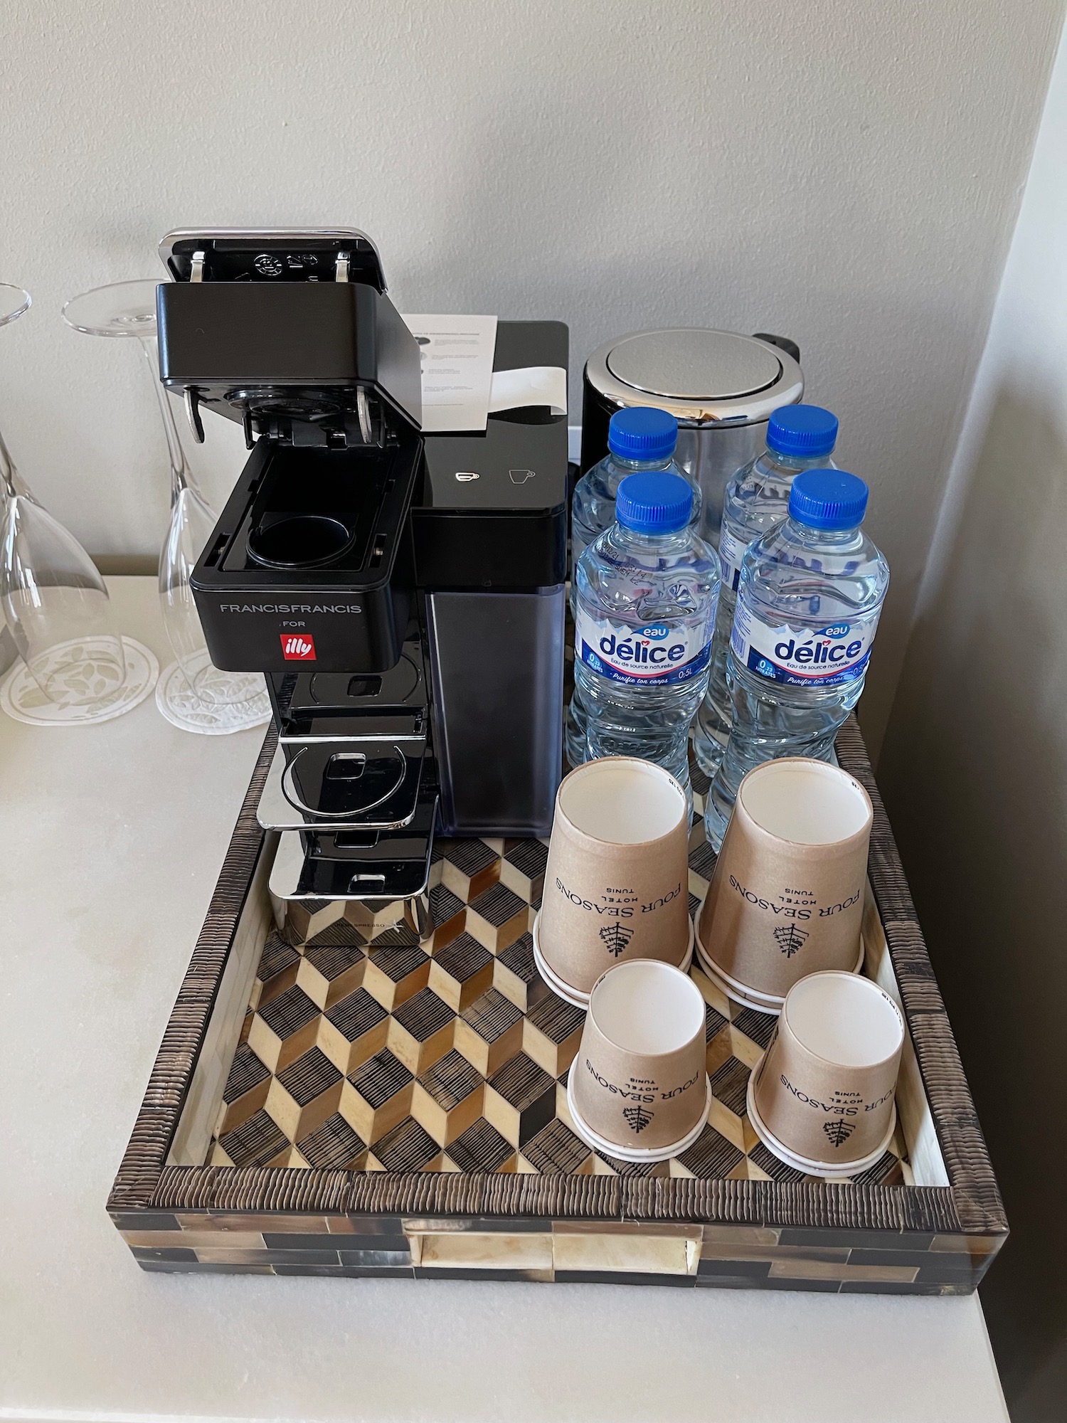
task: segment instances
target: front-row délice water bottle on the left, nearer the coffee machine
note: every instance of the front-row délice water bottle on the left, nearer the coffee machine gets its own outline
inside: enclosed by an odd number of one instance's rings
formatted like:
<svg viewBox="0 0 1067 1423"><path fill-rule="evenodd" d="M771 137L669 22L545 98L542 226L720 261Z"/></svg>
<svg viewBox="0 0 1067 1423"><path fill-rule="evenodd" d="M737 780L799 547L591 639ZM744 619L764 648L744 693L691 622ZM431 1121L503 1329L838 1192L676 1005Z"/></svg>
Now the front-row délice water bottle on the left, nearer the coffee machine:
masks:
<svg viewBox="0 0 1067 1423"><path fill-rule="evenodd" d="M627 475L615 512L575 578L582 760L640 756L689 787L689 726L707 689L718 555L691 527L693 485L680 474Z"/></svg>

